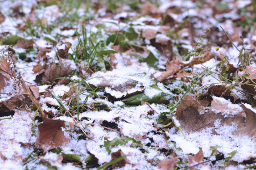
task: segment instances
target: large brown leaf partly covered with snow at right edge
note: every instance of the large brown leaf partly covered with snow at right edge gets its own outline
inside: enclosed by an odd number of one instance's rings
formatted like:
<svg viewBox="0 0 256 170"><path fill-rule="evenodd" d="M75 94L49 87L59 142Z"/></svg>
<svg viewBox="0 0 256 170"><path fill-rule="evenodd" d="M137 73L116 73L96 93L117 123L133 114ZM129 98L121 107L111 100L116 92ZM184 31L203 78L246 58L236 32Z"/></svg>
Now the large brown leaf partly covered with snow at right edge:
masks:
<svg viewBox="0 0 256 170"><path fill-rule="evenodd" d="M179 105L180 107L177 107L175 115L181 125L181 128L188 133L201 131L206 128L215 127L214 122L216 122L216 120L220 120L220 126L233 126L233 124L237 125L238 130L234 131L233 134L246 134L249 135L249 137L255 137L256 116L251 109L245 108L243 105L241 105L241 108L239 105L232 104L230 101L220 97L215 98L219 98L220 100L214 100L213 97L210 110L204 114L200 114L200 110L198 111L196 109L195 106L198 105L196 103L193 105L188 101L189 104L187 105L192 106L182 107L182 105L185 103L183 102L184 100L181 100ZM213 131L213 134L218 133L218 131Z"/></svg>

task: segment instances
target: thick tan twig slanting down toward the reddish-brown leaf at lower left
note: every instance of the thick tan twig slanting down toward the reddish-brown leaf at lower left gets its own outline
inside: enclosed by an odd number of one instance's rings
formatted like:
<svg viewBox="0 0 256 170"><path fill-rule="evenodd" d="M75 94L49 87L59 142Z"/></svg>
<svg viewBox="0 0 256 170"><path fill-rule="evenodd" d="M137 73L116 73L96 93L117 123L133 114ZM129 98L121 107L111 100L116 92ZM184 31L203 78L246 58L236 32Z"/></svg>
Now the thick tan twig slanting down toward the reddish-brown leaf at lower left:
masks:
<svg viewBox="0 0 256 170"><path fill-rule="evenodd" d="M39 113L42 116L42 119L44 120L44 118L48 117L46 113L44 113L43 109L41 108L38 100L36 100L35 96L30 92L30 89L27 87L27 84L24 82L22 76L19 74L18 75L18 79L20 84L22 85L23 89L26 91L28 97L30 97L30 99L32 100L32 103L34 104L35 108L39 108Z"/></svg>

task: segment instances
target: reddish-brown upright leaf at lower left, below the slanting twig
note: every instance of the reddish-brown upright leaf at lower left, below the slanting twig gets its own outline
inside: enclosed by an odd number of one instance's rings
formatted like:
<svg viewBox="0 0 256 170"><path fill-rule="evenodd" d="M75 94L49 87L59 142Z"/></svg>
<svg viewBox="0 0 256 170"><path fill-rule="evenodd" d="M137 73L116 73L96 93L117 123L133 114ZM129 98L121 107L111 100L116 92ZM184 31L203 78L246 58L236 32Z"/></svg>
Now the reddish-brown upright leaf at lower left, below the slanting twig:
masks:
<svg viewBox="0 0 256 170"><path fill-rule="evenodd" d="M38 125L35 145L42 147L44 152L66 145L69 140L61 130L64 125L65 121L44 118L44 122Z"/></svg>

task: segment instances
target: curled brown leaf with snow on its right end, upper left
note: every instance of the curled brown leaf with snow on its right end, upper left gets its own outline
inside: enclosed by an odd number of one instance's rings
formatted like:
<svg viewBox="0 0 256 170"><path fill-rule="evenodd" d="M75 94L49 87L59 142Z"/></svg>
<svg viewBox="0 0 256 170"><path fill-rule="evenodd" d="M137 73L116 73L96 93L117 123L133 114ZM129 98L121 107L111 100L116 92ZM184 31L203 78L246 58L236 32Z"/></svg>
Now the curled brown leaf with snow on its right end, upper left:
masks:
<svg viewBox="0 0 256 170"><path fill-rule="evenodd" d="M59 65L56 65L55 62L51 63L51 66L49 66L44 72L42 82L46 84L55 78L67 76L75 70L73 64L72 60L62 58L60 58Z"/></svg>

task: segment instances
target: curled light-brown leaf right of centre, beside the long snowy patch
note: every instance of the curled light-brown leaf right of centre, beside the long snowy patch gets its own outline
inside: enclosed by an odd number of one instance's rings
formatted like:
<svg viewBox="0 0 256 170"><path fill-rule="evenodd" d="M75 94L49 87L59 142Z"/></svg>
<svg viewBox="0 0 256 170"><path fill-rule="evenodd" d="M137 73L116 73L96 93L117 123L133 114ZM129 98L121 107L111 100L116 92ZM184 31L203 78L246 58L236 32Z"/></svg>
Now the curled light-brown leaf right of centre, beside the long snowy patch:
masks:
<svg viewBox="0 0 256 170"><path fill-rule="evenodd" d="M166 71L163 71L162 74L156 78L159 82L163 82L163 80L167 79L168 76L175 74L177 71L181 69L179 63L176 60L172 60L171 62L166 62Z"/></svg>

